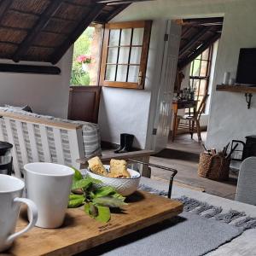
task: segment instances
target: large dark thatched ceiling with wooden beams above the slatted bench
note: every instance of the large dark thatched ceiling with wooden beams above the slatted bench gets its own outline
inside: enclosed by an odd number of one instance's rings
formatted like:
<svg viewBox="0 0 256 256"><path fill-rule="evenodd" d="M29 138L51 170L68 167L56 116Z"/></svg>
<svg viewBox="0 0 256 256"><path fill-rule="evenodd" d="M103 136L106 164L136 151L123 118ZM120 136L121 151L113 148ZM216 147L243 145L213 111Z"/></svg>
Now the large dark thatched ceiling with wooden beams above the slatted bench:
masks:
<svg viewBox="0 0 256 256"><path fill-rule="evenodd" d="M0 0L0 58L55 64L92 21L145 0Z"/></svg>

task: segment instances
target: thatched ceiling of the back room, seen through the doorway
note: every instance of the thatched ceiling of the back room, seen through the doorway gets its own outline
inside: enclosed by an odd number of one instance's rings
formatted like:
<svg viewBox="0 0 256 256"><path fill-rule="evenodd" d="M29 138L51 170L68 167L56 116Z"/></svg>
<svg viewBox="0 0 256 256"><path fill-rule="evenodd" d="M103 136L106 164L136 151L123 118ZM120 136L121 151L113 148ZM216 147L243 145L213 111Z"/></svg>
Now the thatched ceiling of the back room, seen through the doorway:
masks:
<svg viewBox="0 0 256 256"><path fill-rule="evenodd" d="M182 21L178 67L183 69L221 36L223 18L187 19Z"/></svg>

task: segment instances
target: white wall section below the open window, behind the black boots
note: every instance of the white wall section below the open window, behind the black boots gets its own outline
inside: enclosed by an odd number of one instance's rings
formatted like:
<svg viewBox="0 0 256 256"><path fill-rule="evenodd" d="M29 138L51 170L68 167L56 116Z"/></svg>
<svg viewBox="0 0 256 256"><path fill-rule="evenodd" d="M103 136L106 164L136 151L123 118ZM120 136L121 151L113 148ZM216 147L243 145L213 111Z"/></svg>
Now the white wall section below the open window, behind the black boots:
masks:
<svg viewBox="0 0 256 256"><path fill-rule="evenodd" d="M121 95L121 96L120 96ZM124 97L125 95L125 97ZM135 135L135 147L146 143L150 92L102 88L99 124L102 141L120 143L120 133Z"/></svg>

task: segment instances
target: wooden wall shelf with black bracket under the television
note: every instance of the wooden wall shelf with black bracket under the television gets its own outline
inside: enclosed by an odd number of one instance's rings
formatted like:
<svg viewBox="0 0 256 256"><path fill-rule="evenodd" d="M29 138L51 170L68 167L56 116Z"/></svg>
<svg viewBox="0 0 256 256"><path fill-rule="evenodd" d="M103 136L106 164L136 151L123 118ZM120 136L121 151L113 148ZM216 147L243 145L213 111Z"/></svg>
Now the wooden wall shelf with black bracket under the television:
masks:
<svg viewBox="0 0 256 256"><path fill-rule="evenodd" d="M248 109L251 108L253 93L256 93L256 87L250 87L250 86L239 85L239 84L234 84L234 85L217 84L216 90L244 93L245 94L244 96L246 97Z"/></svg>

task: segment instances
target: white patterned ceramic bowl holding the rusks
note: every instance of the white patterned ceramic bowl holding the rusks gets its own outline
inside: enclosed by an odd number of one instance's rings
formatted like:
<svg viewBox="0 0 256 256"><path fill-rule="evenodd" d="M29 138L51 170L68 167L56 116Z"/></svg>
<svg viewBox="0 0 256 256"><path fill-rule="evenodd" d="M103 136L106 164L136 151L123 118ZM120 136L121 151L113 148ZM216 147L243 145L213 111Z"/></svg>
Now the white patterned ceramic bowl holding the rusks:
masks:
<svg viewBox="0 0 256 256"><path fill-rule="evenodd" d="M105 168L109 169L109 166L106 165ZM87 170L87 174L90 177L101 180L102 183L99 184L100 186L111 186L116 189L119 194L127 196L136 191L141 179L141 174L139 172L131 169L128 169L127 171L130 173L131 177L104 177L90 172L90 170Z"/></svg>

